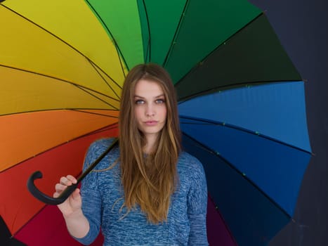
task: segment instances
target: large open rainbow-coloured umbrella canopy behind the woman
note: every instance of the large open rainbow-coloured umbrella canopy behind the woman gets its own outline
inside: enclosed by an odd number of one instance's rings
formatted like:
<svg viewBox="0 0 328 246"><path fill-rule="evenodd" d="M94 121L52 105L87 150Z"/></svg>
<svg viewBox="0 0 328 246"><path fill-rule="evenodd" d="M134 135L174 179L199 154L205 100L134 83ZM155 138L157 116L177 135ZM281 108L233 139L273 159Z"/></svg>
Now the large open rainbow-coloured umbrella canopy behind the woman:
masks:
<svg viewBox="0 0 328 246"><path fill-rule="evenodd" d="M34 227L56 214L26 181L41 170L36 186L51 195L59 176L77 176L88 145L117 136L126 72L147 62L171 74L183 147L204 165L210 244L265 245L288 223L311 153L303 81L260 9L6 0L0 20L0 211L14 238L63 245L60 226ZM25 233L35 228L51 233Z"/></svg>

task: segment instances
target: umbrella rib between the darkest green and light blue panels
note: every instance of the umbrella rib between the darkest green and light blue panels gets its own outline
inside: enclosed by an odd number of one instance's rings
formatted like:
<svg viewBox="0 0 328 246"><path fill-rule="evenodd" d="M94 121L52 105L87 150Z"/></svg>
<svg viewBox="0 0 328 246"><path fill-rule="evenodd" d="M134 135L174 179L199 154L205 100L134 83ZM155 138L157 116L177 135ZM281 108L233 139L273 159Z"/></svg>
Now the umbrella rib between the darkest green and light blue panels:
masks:
<svg viewBox="0 0 328 246"><path fill-rule="evenodd" d="M206 89L204 91L199 91L197 93L190 94L185 97L178 98L179 102L178 104L184 103L185 101L188 101L192 98L196 98L198 96L204 96L209 93L214 93L216 91L224 91L228 89L234 89L234 88L241 88L242 86L244 87L251 87L251 86L256 86L256 85L261 85L263 83L284 83L284 82L301 82L300 80L291 80L291 79L284 79L284 80L265 80L265 81L254 81L254 82L241 82L241 83L235 83L235 84L228 84L225 86L216 86L211 89Z"/></svg>

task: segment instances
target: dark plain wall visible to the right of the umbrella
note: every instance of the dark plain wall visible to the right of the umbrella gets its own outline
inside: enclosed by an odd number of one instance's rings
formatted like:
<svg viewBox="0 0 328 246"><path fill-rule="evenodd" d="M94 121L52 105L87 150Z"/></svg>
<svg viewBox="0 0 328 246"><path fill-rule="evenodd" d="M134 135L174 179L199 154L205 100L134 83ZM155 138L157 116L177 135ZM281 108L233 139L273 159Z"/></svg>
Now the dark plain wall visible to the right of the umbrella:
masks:
<svg viewBox="0 0 328 246"><path fill-rule="evenodd" d="M294 222L270 246L328 245L328 18L327 0L250 0L265 11L282 46L306 81L312 157Z"/></svg>

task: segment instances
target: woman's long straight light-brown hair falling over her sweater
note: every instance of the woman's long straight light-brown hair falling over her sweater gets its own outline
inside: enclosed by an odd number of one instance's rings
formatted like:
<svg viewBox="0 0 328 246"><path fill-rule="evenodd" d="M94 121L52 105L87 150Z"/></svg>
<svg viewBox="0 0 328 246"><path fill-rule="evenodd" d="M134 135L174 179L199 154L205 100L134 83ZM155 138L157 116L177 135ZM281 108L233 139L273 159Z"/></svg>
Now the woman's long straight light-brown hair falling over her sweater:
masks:
<svg viewBox="0 0 328 246"><path fill-rule="evenodd" d="M140 79L157 82L166 102L166 124L157 138L155 151L145 156L145 137L138 130L134 93ZM171 77L154 63L133 67L126 76L119 112L119 148L125 203L128 211L136 205L152 224L166 221L170 198L178 180L176 163L181 152L181 131L176 91Z"/></svg>

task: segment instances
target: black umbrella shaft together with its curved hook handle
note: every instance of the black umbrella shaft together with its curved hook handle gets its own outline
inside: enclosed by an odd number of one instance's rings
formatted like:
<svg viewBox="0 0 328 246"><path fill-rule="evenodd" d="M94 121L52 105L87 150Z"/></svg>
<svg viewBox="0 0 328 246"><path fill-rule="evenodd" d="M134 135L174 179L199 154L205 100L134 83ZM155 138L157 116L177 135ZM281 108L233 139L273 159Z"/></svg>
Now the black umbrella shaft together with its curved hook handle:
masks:
<svg viewBox="0 0 328 246"><path fill-rule="evenodd" d="M100 162L100 160L103 160L103 157L105 157L112 148L114 148L114 145L118 142L118 138L114 138L114 141L110 144L110 146L107 148L107 150L104 151L103 154L101 154L97 160L95 160L89 167L84 171L84 173L79 176L77 179L77 183L73 183L72 186L67 186L65 190L63 190L62 193L58 196L58 198L51 198L50 196L42 193L35 185L34 180L41 179L42 173L41 171L35 171L31 176L29 176L29 179L27 180L27 188L29 190L29 193L31 193L34 198L37 198L41 202L44 202L48 205L59 205L60 203L65 202L65 200L72 194L72 192L77 188L77 185L79 182L82 181L82 179L85 178L85 176L92 171L94 167Z"/></svg>

